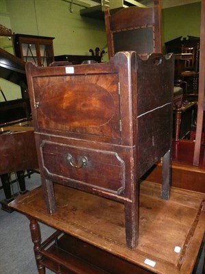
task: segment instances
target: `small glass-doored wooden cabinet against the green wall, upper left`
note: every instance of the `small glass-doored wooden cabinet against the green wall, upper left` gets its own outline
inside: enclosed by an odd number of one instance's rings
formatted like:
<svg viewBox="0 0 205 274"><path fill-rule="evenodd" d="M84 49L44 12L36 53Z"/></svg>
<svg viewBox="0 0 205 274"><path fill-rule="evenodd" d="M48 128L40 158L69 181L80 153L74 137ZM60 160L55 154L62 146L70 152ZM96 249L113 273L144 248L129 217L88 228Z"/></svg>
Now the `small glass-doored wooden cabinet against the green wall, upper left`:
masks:
<svg viewBox="0 0 205 274"><path fill-rule="evenodd" d="M49 66L54 61L53 37L14 34L14 52L25 62Z"/></svg>

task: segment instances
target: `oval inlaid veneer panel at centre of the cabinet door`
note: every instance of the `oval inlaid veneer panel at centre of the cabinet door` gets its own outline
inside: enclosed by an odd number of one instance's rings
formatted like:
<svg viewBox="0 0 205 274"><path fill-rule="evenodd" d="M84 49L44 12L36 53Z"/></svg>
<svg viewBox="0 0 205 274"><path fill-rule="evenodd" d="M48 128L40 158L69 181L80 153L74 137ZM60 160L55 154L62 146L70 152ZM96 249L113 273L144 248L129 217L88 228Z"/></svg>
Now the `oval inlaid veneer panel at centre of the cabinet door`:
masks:
<svg viewBox="0 0 205 274"><path fill-rule="evenodd" d="M104 125L115 113L111 93L91 82L52 82L41 92L39 102L40 115L64 127Z"/></svg>

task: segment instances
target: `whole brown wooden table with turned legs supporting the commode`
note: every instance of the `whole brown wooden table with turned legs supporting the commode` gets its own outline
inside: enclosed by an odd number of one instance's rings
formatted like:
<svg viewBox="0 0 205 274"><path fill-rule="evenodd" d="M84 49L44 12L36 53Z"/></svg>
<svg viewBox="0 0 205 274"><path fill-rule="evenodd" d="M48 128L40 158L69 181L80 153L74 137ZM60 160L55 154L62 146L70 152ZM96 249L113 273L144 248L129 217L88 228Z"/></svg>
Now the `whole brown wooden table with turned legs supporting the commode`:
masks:
<svg viewBox="0 0 205 274"><path fill-rule="evenodd" d="M68 269L78 274L192 273L204 238L205 195L172 188L165 201L159 184L141 182L139 244L133 250L126 247L122 203L59 184L55 196L53 215L46 213L42 187L10 203L31 222L38 273L44 267L62 274ZM38 221L58 232L41 243Z"/></svg>

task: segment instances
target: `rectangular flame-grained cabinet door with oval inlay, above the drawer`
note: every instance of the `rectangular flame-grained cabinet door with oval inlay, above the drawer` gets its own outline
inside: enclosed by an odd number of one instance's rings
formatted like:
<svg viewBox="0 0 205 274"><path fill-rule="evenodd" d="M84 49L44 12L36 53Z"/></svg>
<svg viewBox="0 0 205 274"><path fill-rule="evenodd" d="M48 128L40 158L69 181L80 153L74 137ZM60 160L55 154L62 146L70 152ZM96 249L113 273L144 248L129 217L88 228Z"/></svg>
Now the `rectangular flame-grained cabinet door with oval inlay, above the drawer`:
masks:
<svg viewBox="0 0 205 274"><path fill-rule="evenodd" d="M33 77L38 129L120 138L118 74Z"/></svg>

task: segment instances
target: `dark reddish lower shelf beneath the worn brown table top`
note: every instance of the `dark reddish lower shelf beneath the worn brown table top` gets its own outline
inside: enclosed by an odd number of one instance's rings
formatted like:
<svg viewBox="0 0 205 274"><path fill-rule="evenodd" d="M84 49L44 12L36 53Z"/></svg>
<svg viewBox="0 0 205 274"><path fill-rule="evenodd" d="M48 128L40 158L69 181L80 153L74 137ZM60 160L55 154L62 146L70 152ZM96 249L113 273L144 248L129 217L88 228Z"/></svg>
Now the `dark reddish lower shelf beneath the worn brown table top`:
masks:
<svg viewBox="0 0 205 274"><path fill-rule="evenodd" d="M43 245L43 244L42 244ZM95 273L95 274L118 274L137 273L149 274L146 269L139 269L135 264L124 261L118 256L114 256L107 251L103 251L94 245L90 245L83 240L72 237L68 234L56 239L56 244L51 248L42 250L44 258L42 265L52 269L58 269L61 273ZM53 264L52 260L61 260L60 266ZM63 260L62 260L63 259Z"/></svg>

